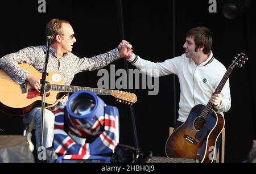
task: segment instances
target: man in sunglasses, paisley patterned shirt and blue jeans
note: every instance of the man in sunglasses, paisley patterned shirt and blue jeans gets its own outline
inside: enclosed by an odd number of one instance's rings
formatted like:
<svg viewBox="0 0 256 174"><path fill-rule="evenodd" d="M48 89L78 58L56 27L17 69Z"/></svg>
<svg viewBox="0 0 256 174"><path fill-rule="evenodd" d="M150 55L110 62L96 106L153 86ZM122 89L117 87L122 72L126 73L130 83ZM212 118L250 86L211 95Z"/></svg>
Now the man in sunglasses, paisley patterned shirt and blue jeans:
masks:
<svg viewBox="0 0 256 174"><path fill-rule="evenodd" d="M132 50L130 44L126 48L113 49L105 54L92 58L79 58L71 53L73 44L76 42L75 33L71 24L65 20L52 19L46 26L46 36L54 35L49 48L49 61L47 72L57 71L65 80L65 85L71 84L75 74L81 71L98 70L109 63L118 60L120 57L128 56ZM5 70L10 77L23 84L27 80L35 90L40 90L40 79L27 70L24 70L18 63L28 63L35 67L40 73L43 72L46 55L46 46L31 46L0 58L0 68ZM61 100L65 104L67 97ZM35 117L36 124L36 147L40 146L41 137L41 108L36 107L23 117L25 124L30 124ZM44 116L44 147L52 146L55 115L46 109Z"/></svg>

